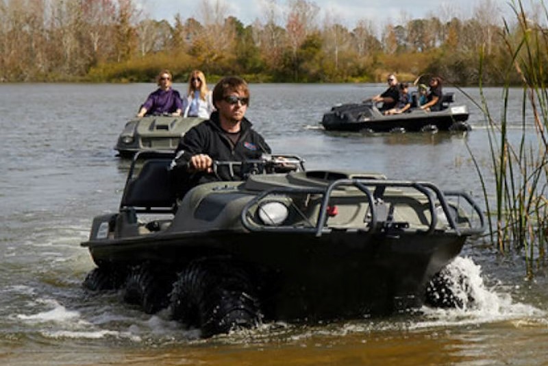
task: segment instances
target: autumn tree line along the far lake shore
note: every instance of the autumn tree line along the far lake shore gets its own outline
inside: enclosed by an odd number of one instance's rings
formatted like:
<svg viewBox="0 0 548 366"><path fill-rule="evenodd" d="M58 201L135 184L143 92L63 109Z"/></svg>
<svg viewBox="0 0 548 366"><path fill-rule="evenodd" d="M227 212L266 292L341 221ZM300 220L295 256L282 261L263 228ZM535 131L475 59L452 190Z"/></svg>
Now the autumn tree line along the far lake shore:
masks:
<svg viewBox="0 0 548 366"><path fill-rule="evenodd" d="M403 14L398 23L363 19L351 28L336 15L321 17L314 1L286 5L282 12L266 0L262 19L245 25L221 0L201 0L200 16L178 13L171 23L151 19L136 0L2 0L0 81L149 82L167 68L179 81L201 69L213 80L237 74L251 82L376 82L389 72L458 85L520 82L508 73L508 42L521 39L521 28L501 18L494 0L468 19L440 8L423 19ZM545 37L537 6L533 29ZM538 50L539 62L546 54Z"/></svg>

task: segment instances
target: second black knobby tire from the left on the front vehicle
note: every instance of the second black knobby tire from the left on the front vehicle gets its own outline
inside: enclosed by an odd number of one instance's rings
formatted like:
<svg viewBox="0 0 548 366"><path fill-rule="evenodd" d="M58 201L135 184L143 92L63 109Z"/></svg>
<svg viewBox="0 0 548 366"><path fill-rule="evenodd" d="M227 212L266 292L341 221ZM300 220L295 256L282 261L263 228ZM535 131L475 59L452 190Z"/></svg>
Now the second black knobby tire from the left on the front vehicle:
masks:
<svg viewBox="0 0 548 366"><path fill-rule="evenodd" d="M147 265L132 267L125 280L124 301L140 305L147 314L157 313L169 305L171 282Z"/></svg>

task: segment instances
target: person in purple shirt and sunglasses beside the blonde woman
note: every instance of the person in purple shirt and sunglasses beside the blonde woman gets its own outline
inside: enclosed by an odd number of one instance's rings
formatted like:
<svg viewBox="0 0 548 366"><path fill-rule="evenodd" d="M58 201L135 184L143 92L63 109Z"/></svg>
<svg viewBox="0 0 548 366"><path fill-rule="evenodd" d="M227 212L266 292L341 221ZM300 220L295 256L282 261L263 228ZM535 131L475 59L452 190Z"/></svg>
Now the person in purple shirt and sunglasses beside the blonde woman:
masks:
<svg viewBox="0 0 548 366"><path fill-rule="evenodd" d="M171 88L173 75L169 70L162 70L156 77L158 89L149 95L137 114L137 117L145 115L159 115L169 113L173 116L180 116L183 109L183 102L179 92Z"/></svg>

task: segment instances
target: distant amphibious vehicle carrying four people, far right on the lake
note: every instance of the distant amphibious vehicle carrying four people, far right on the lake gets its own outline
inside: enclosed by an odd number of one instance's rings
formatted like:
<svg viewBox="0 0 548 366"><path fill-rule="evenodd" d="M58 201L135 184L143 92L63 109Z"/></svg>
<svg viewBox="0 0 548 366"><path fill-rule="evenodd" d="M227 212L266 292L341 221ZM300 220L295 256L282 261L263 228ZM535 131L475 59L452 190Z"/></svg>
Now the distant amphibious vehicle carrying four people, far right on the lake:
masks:
<svg viewBox="0 0 548 366"><path fill-rule="evenodd" d="M438 132L471 130L468 108L453 106L454 93L443 95L443 108L426 112L411 108L410 112L385 116L374 103L347 103L334 106L323 115L327 131L347 132Z"/></svg>

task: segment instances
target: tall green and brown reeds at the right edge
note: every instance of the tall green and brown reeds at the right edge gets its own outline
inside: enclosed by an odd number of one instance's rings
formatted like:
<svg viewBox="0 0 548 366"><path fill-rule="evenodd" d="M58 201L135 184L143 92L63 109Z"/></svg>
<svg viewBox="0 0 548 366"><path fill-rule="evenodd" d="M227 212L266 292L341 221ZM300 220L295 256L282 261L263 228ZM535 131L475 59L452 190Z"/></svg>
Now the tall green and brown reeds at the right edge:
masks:
<svg viewBox="0 0 548 366"><path fill-rule="evenodd" d="M483 93L481 107L486 116L488 144L493 167L495 197L490 199L486 177L476 163L486 207L490 215L491 240L502 254L521 254L527 276L532 277L546 263L548 248L548 29L527 18L521 1L511 4L516 16L512 26L505 21L503 38L508 54L502 113L490 113ZM544 1L540 4L548 21ZM538 16L538 14L537 14ZM481 58L481 64L485 60ZM481 67L481 66L480 66ZM511 75L521 80L521 121L518 138L509 127L508 101ZM480 90L483 85L480 83ZM489 180L490 181L490 180Z"/></svg>

